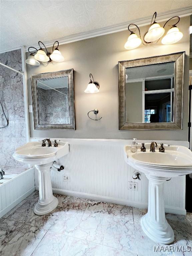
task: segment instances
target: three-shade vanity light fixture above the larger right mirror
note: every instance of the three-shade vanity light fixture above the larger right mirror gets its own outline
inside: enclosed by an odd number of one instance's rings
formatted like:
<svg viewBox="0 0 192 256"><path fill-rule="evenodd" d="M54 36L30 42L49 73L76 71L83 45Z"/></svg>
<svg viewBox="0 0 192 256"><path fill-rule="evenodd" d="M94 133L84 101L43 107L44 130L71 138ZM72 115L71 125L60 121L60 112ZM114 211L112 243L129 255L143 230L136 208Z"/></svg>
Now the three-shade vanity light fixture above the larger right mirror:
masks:
<svg viewBox="0 0 192 256"><path fill-rule="evenodd" d="M155 12L153 14L153 17L151 19L151 25L150 28L148 30L148 32L145 34L144 36L144 42L141 39L141 33L140 33L140 29L137 25L131 23L128 26L128 30L131 32L131 34L129 35L127 42L125 43L124 47L127 50L132 50L135 49L137 47L139 47L139 45L142 43L143 45L147 45L149 43L152 44L156 44L159 39L164 35L165 33L165 25L174 18L178 18L178 21L171 25L171 28L169 29L169 31L167 32L167 34L163 37L161 43L162 44L174 44L176 42L178 42L182 37L183 37L183 33L181 33L179 31L179 29L176 27L176 24L180 21L179 16L174 16L172 18L170 18L168 21L165 22L164 26L161 27L156 21L156 16L157 13ZM139 37L134 33L134 31L132 31L130 29L130 26L135 26L138 30L139 30Z"/></svg>

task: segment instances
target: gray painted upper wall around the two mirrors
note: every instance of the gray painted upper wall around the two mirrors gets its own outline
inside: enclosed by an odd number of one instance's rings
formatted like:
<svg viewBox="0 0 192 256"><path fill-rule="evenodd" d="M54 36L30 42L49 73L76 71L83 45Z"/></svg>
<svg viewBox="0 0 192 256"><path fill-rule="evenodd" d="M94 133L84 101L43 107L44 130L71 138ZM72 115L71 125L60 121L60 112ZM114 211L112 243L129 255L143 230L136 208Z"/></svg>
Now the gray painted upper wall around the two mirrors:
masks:
<svg viewBox="0 0 192 256"><path fill-rule="evenodd" d="M163 25L163 23L161 23ZM59 71L74 68L75 81L75 111L76 131L34 131L33 115L30 113L31 137L58 137L58 138L108 138L108 139L165 139L187 140L188 122L188 84L189 84L189 24L190 17L183 17L178 24L183 33L179 43L173 45L141 45L132 51L124 49L129 35L122 31L109 35L90 38L59 46L65 61L53 62L39 67L27 65L29 104L32 104L31 81L32 74ZM168 28L166 28L167 31ZM148 26L141 27L142 36ZM37 38L37 42L40 38ZM51 48L49 49L51 51ZM185 90L184 90L184 128L182 131L151 131L151 130L118 130L118 61L131 60L143 57L169 54L186 51L185 61ZM28 54L27 54L28 56ZM100 84L100 92L95 94L84 93L89 82L89 73ZM94 108L99 109L100 121L92 121L87 112Z"/></svg>

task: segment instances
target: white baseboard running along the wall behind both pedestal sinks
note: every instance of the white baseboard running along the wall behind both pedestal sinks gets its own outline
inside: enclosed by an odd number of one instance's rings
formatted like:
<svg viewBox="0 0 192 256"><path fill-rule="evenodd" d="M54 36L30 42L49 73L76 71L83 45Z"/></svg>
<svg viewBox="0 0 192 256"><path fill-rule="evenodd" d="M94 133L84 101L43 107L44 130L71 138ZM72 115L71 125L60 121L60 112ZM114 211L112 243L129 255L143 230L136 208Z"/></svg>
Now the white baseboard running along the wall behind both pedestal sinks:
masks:
<svg viewBox="0 0 192 256"><path fill-rule="evenodd" d="M35 189L39 190L39 186L35 186ZM128 206L136 207L136 208L147 208L148 207L148 204L146 204L146 203L138 203L138 202L134 202L134 201L127 201L127 200L119 199L119 198L93 195L93 194L87 194L87 193L64 190L64 189L58 189L58 188L53 188L52 190L53 190L53 193L60 194L60 195L69 195L69 196L87 198L87 199L92 199L92 200L97 200L97 201L102 201L102 202L107 202L107 203L128 205ZM179 214L179 215L186 215L186 210L185 209L170 207L170 206L165 206L165 212L166 213Z"/></svg>

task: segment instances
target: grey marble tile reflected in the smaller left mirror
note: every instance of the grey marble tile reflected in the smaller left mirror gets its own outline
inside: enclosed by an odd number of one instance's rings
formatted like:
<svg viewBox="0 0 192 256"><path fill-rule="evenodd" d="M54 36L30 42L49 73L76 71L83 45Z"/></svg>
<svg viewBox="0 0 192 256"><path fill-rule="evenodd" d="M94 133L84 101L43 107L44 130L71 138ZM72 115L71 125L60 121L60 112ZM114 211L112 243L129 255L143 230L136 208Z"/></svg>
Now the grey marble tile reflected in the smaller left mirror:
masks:
<svg viewBox="0 0 192 256"><path fill-rule="evenodd" d="M58 91L38 88L40 124L68 124L70 122L68 99L62 94L68 94L68 88L56 88L56 90Z"/></svg>

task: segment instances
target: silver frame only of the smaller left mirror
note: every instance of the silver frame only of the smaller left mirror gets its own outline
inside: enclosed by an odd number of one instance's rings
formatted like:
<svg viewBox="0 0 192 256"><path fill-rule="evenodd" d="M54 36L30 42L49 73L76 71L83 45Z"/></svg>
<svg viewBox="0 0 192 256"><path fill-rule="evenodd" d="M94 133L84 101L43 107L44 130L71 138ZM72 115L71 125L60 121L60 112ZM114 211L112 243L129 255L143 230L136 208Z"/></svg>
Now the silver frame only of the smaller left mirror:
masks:
<svg viewBox="0 0 192 256"><path fill-rule="evenodd" d="M61 70L56 72L31 75L33 124L35 130L75 130L75 94L74 94L74 70ZM69 81L69 112L70 124L39 124L39 106L37 96L37 81L41 79L68 76Z"/></svg>

